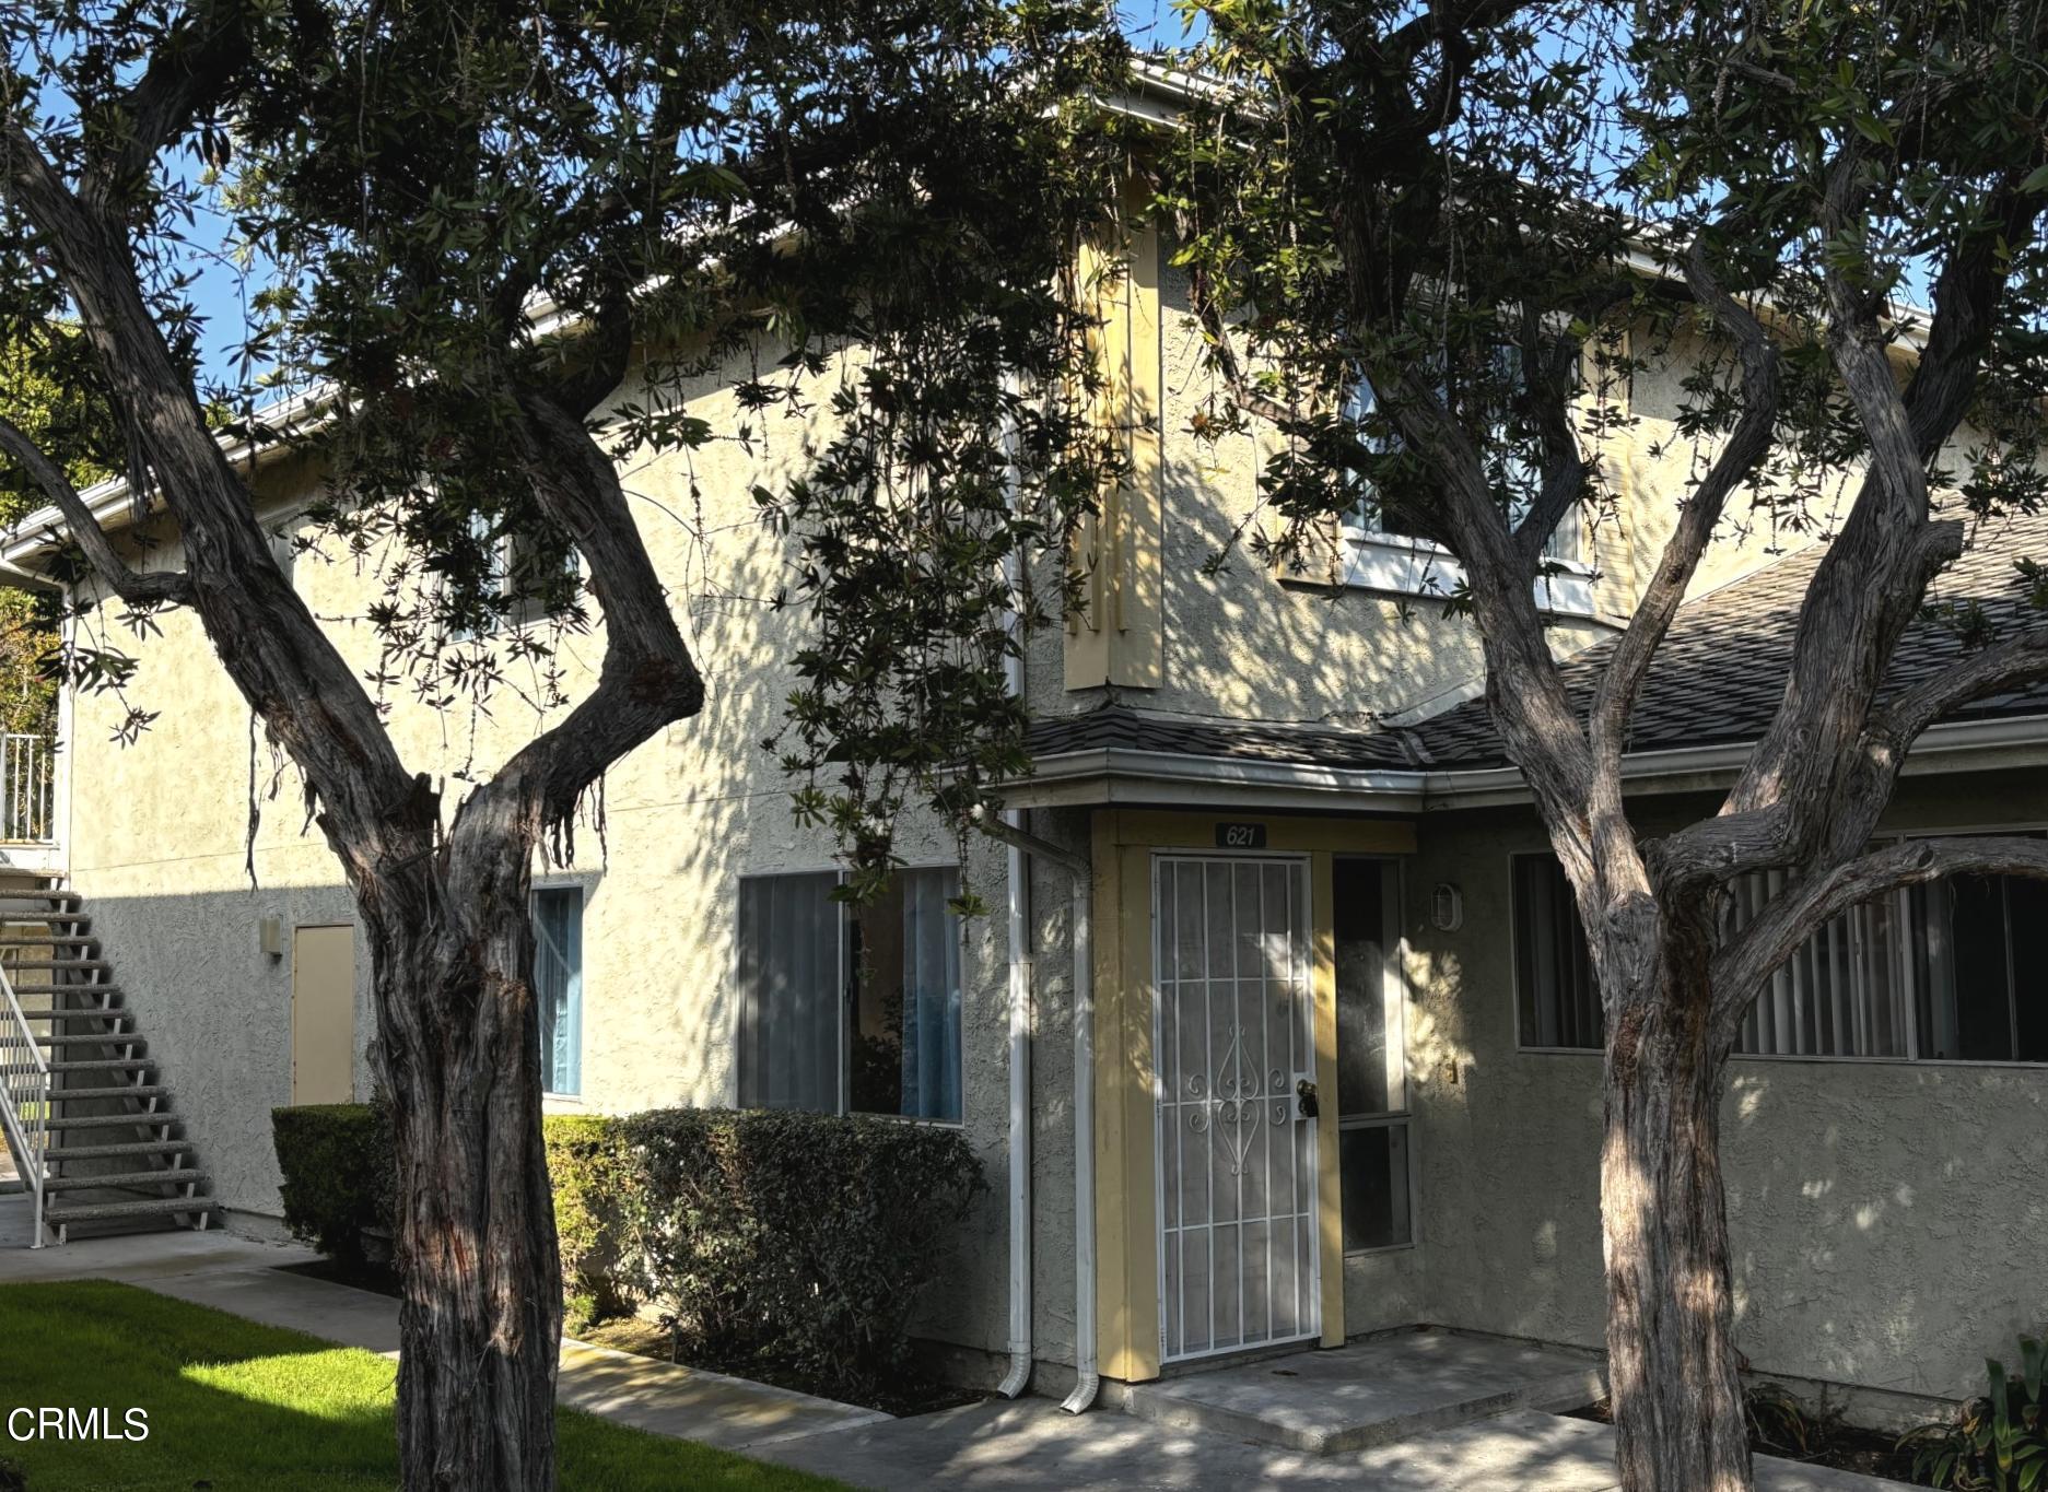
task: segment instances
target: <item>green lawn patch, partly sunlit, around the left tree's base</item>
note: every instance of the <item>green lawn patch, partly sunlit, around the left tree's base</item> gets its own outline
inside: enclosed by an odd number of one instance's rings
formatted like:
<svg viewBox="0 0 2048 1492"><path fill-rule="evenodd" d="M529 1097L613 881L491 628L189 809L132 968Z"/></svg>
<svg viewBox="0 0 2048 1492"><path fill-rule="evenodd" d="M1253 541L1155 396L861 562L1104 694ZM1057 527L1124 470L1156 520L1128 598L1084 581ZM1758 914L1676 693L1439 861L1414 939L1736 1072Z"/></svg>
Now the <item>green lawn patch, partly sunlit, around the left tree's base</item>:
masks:
<svg viewBox="0 0 2048 1492"><path fill-rule="evenodd" d="M0 1457L29 1492L342 1492L397 1484L397 1363L133 1285L0 1285L0 1416L150 1412L147 1441L27 1441ZM4 1420L0 1420L4 1422ZM799 1472L561 1412L567 1492L827 1492Z"/></svg>

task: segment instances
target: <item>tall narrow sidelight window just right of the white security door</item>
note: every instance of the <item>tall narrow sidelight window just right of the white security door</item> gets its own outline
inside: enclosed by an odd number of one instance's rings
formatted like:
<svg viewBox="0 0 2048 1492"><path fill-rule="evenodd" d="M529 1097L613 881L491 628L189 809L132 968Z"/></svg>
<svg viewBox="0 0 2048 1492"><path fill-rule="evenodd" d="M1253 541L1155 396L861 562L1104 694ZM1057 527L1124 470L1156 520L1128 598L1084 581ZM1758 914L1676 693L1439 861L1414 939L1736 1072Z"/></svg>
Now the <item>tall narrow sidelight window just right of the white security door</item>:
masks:
<svg viewBox="0 0 2048 1492"><path fill-rule="evenodd" d="M1343 1250L1415 1240L1397 868L1339 855L1331 866L1337 944L1337 1179Z"/></svg>

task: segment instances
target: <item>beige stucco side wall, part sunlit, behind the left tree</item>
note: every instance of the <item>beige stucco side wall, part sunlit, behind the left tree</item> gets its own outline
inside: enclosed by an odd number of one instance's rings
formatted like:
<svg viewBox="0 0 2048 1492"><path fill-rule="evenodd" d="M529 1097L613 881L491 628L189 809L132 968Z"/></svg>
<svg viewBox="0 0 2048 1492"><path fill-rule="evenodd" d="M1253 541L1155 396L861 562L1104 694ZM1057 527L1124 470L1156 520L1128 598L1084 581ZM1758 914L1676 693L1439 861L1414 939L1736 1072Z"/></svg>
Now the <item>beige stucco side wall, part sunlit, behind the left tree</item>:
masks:
<svg viewBox="0 0 2048 1492"><path fill-rule="evenodd" d="M731 426L723 389L705 385L696 411ZM616 763L604 780L602 831L578 827L571 866L539 866L537 884L578 882L584 909L582 1095L557 1109L631 1111L651 1105L733 1103L737 880L743 874L821 870L827 835L797 827L788 782L760 741L782 722L795 686L786 665L805 626L768 598L786 579L780 540L758 520L748 491L786 471L803 430L770 422L750 454L723 442L676 458L629 460L627 487L641 532L670 583L678 618L707 675L702 714ZM692 485L694 483L694 485ZM313 491L303 469L262 477L266 516L289 514ZM160 534L150 565L176 565ZM367 673L377 637L365 620L381 594L379 559L299 555L293 583L344 655ZM86 639L133 653L139 667L121 694L78 700L70 870L90 901L94 929L115 962L164 1081L178 1093L188 1134L233 1210L274 1214L270 1109L291 1099L291 960L260 950L260 921L276 915L289 950L293 925L352 921L350 898L317 827L305 825L297 772L260 739L190 612L160 618L160 632L129 637L102 608ZM1057 639L1053 639L1057 649ZM567 692L578 696L602 657L602 630L561 641ZM1057 651L1053 653L1057 663ZM520 700L524 665L487 708L428 710L410 686L385 690L391 733L408 767L428 772L453 813L465 778L483 776L555 716ZM113 733L129 708L156 718L133 745ZM260 823L248 843L252 780ZM1085 823L1036 815L1034 829L1085 845ZM958 858L948 835L909 825L911 864ZM979 841L965 874L1004 905L1004 853ZM252 884L254 880L254 884ZM1071 993L1065 954L1067 878L1036 876L1044 974L1038 1019L1065 1036ZM1006 1341L1006 1134L1008 991L1004 917L967 929L965 1130L991 1189L956 1240L930 1302L934 1332L977 1349ZM369 954L358 941L358 1046L373 1034ZM1044 1205L1038 1248L1038 1339L1071 1361L1071 1044L1040 1046L1036 1072L1036 1173ZM358 1058L356 1087L373 1066ZM1065 1128L1063 1128L1065 1126Z"/></svg>

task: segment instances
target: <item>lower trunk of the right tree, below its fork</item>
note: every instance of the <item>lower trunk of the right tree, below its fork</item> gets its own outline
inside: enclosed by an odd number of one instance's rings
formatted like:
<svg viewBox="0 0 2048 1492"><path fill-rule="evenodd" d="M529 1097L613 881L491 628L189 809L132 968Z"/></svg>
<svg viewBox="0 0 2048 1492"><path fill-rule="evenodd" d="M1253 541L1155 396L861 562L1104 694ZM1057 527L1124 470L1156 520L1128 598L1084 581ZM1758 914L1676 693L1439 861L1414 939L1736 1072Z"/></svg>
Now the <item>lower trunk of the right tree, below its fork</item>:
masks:
<svg viewBox="0 0 2048 1492"><path fill-rule="evenodd" d="M1669 958L1669 952L1667 952ZM1663 962L1663 960L1659 960ZM1749 1492L1704 952L1610 1001L1599 1212L1626 1492Z"/></svg>

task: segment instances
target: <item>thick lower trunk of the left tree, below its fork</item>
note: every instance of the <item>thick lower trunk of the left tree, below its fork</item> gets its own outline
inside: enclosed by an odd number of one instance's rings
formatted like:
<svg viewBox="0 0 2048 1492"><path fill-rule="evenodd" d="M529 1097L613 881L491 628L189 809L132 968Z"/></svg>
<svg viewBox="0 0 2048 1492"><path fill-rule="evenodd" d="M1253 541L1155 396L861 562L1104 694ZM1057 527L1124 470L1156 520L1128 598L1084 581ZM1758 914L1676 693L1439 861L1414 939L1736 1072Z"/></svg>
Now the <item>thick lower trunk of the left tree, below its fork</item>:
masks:
<svg viewBox="0 0 2048 1492"><path fill-rule="evenodd" d="M492 880L479 901L436 886L430 905L367 919L397 1144L408 1492L555 1486L561 1265L532 931L524 870ZM442 925L457 907L465 925Z"/></svg>

